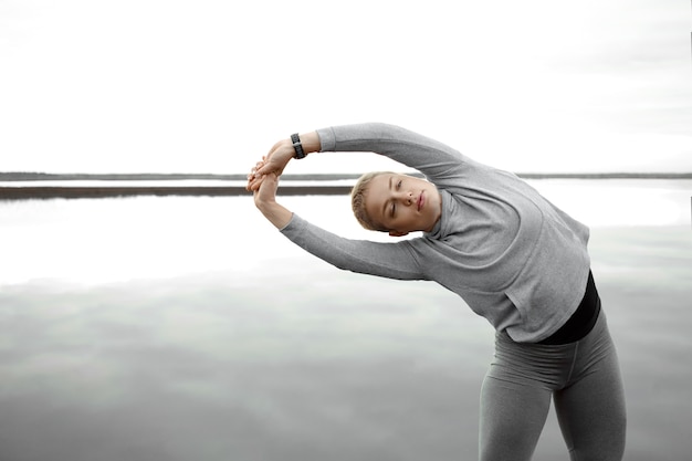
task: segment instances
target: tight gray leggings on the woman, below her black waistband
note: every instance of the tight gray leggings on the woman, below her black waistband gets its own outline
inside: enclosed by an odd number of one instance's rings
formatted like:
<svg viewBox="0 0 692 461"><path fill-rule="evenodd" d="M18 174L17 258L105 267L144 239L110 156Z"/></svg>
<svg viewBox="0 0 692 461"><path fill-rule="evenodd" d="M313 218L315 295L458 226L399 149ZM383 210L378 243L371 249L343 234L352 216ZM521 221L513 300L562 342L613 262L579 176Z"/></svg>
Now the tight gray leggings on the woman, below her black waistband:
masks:
<svg viewBox="0 0 692 461"><path fill-rule="evenodd" d="M573 461L622 459L625 396L602 311L572 344L521 344L496 334L481 390L481 461L531 460L551 397Z"/></svg>

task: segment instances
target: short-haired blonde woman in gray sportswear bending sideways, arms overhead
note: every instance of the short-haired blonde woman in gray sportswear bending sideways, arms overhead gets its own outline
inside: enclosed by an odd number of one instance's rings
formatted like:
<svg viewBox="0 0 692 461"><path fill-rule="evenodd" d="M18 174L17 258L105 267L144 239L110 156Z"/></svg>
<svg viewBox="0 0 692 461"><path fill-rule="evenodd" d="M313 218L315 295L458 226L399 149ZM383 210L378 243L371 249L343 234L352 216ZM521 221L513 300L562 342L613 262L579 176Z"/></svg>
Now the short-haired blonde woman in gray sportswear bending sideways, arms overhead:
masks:
<svg viewBox="0 0 692 461"><path fill-rule="evenodd" d="M373 151L421 171L360 178L354 213L396 243L348 240L276 202L292 158ZM480 459L530 460L551 405L573 460L621 460L626 412L618 358L596 291L589 230L515 175L384 124L319 129L274 145L248 177L260 211L333 265L430 280L459 294L495 328L481 390Z"/></svg>

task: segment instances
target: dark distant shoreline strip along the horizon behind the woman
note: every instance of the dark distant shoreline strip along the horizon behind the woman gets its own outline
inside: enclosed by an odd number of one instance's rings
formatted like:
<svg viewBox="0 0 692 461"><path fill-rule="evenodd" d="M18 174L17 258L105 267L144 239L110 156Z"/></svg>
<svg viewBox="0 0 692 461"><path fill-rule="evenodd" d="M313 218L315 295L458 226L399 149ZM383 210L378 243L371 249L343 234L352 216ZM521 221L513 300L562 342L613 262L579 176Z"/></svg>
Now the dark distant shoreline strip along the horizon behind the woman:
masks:
<svg viewBox="0 0 692 461"><path fill-rule="evenodd" d="M340 196L348 195L349 185L328 185L327 181L353 180L360 175L285 175L280 186L283 196ZM417 175L420 176L420 175ZM524 179L692 179L690 174L631 174L631 172L601 172L601 174L518 174ZM244 188L245 175L211 175L211 174L43 174L43 172L0 172L0 200L30 200L53 198L115 198L135 196L197 196L197 197L228 197L249 196ZM171 184L166 181L195 180L195 185ZM205 181L209 185L203 185ZM36 182L46 181L45 186ZM49 181L52 181L49 185ZM94 181L95 185L77 186L76 181ZM108 185L108 181L120 184ZM123 185L122 182L126 182ZM146 184L156 181L156 185ZM200 184L200 181L202 184ZM212 182L213 181L213 182ZM234 181L228 186L219 182ZM302 181L292 185L291 182ZM305 185L305 181L310 184ZM321 181L323 184L321 184ZM10 185L8 185L8 182ZM24 184L22 182L31 182ZM54 182L64 182L55 185ZM71 182L73 185L71 185ZM130 184L127 184L130 182ZM238 182L241 182L239 185Z"/></svg>

